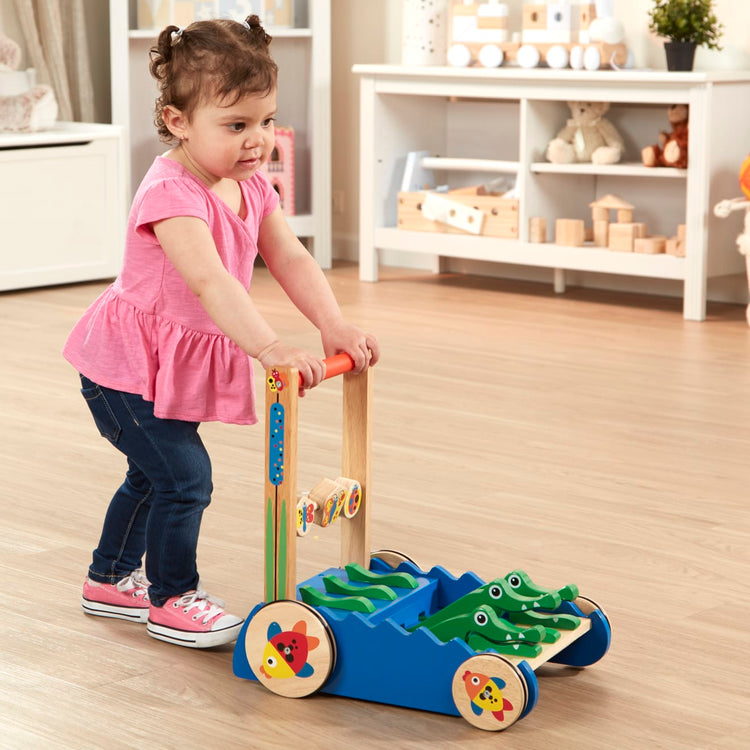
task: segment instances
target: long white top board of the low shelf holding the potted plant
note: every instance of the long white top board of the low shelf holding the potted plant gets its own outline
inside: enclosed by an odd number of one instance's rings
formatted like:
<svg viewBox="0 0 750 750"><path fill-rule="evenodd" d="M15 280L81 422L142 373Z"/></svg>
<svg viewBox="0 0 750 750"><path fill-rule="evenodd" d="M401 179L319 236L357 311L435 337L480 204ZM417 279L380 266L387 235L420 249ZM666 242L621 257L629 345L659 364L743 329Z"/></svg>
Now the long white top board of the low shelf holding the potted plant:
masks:
<svg viewBox="0 0 750 750"><path fill-rule="evenodd" d="M550 68L500 67L453 68L439 65L370 65L352 67L355 75L392 78L433 78L435 80L496 80L507 82L550 83L631 83L689 86L696 83L731 83L750 81L750 70L711 70L669 72L666 70L552 70Z"/></svg>

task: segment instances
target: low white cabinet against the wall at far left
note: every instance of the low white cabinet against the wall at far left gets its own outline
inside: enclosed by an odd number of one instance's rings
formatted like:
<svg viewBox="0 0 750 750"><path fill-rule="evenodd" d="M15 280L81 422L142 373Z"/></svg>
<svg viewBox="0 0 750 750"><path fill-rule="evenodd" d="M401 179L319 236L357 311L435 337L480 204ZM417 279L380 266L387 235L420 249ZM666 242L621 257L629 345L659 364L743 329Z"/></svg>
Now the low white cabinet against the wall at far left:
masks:
<svg viewBox="0 0 750 750"><path fill-rule="evenodd" d="M0 290L115 276L125 232L121 129L0 134Z"/></svg>

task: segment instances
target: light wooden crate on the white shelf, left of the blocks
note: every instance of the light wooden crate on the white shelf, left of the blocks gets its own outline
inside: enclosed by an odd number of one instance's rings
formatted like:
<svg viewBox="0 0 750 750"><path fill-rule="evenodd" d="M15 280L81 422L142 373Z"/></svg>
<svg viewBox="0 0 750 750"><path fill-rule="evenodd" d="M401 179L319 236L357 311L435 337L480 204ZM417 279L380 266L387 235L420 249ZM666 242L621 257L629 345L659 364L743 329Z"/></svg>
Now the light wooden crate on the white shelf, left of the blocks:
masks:
<svg viewBox="0 0 750 750"><path fill-rule="evenodd" d="M425 191L400 192L398 194L398 228L413 232L447 232L466 234L448 224L426 219L422 215ZM440 193L444 198L471 206L484 213L481 234L486 237L518 239L518 201L496 195L466 195L460 191Z"/></svg>

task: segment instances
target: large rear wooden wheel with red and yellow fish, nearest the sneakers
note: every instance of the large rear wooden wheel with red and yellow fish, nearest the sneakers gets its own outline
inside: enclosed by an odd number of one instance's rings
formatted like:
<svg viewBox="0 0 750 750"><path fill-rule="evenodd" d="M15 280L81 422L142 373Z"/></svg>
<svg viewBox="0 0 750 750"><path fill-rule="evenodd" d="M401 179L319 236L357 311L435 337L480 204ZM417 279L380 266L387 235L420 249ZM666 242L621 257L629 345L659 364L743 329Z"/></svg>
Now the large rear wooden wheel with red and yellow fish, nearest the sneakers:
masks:
<svg viewBox="0 0 750 750"><path fill-rule="evenodd" d="M312 607L282 599L255 613L245 632L245 653L261 685L287 698L303 698L328 680L336 642Z"/></svg>

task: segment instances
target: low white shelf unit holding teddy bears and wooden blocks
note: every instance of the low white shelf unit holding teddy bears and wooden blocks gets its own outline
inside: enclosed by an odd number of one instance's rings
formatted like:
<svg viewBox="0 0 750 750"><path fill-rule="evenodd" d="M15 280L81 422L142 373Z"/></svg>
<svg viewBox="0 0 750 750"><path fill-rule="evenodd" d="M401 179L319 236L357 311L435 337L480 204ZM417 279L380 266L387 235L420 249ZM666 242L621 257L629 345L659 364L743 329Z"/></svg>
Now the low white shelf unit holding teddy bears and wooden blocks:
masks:
<svg viewBox="0 0 750 750"><path fill-rule="evenodd" d="M744 271L736 229L712 207L738 191L747 142L736 123L750 116L750 72L659 73L518 68L355 65L360 76L360 278L376 281L379 253L441 257L683 282L684 316L705 319L707 280ZM555 165L546 145L570 116L568 101L611 103L607 117L625 139L622 163ZM643 146L668 130L667 107L690 107L687 169L649 169ZM487 172L517 173L519 239L397 229L396 200L406 155L429 151L438 183L489 181ZM480 161L477 161L480 160ZM484 164L481 161L484 161ZM442 162L442 164L441 164ZM449 169L446 169L448 167ZM456 170L463 170L457 177ZM457 180L463 180L463 185ZM528 241L529 219L591 223L589 204L614 193L635 205L648 233L673 236L687 225L686 257L642 255ZM397 251L397 252L394 252Z"/></svg>

